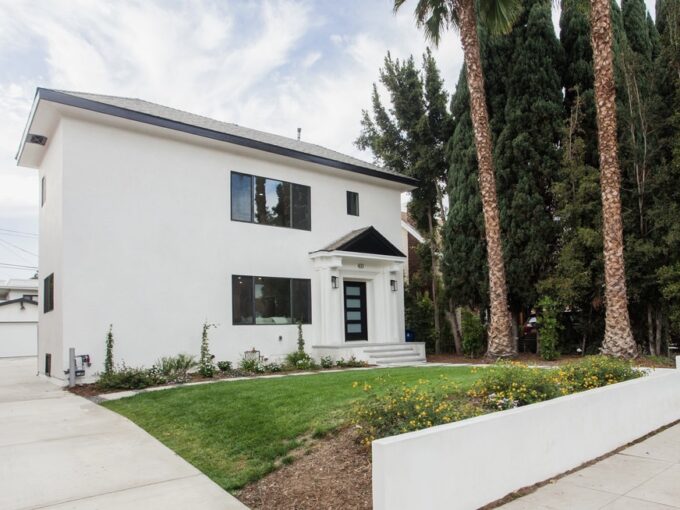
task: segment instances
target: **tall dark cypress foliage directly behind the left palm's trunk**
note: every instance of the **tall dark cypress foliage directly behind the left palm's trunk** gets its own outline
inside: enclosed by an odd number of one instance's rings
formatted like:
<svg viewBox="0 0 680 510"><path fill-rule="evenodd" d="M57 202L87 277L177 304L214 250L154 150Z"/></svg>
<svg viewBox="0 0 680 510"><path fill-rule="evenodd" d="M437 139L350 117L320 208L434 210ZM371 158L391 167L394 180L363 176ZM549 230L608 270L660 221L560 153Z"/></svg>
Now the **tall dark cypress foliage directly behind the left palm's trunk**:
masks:
<svg viewBox="0 0 680 510"><path fill-rule="evenodd" d="M560 66L548 2L525 2L508 36L480 34L490 125L496 141L498 199L511 306L536 299L535 285L557 230L550 184L559 168L562 130ZM445 226L444 269L458 305L486 306L484 235L465 69L452 98L454 134L449 143L450 208Z"/></svg>

